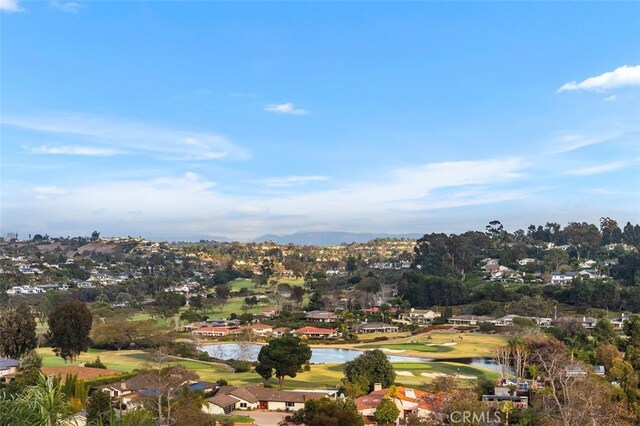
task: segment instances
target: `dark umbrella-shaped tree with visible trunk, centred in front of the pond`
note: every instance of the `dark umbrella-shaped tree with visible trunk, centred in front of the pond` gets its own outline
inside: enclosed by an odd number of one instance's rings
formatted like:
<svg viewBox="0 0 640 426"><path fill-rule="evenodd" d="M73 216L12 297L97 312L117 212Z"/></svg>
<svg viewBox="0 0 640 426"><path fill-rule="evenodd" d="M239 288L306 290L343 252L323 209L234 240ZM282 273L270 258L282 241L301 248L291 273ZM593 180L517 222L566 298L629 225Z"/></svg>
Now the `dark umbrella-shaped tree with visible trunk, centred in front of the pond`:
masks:
<svg viewBox="0 0 640 426"><path fill-rule="evenodd" d="M258 354L256 372L265 380L278 378L280 390L284 387L284 377L296 377L300 367L311 359L311 348L295 336L285 335L271 339Z"/></svg>

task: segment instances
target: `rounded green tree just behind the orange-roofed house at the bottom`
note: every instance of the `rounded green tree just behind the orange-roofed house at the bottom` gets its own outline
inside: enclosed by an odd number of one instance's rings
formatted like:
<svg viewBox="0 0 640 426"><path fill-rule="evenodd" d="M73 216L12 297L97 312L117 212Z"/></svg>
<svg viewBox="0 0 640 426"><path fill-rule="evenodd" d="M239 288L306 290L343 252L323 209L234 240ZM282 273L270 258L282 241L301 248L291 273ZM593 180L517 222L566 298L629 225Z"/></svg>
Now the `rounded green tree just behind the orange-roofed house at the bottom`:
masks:
<svg viewBox="0 0 640 426"><path fill-rule="evenodd" d="M383 388L393 385L396 373L389 358L380 349L366 351L353 361L349 361L344 368L345 379L351 383L365 383L368 392L373 390L376 383Z"/></svg>

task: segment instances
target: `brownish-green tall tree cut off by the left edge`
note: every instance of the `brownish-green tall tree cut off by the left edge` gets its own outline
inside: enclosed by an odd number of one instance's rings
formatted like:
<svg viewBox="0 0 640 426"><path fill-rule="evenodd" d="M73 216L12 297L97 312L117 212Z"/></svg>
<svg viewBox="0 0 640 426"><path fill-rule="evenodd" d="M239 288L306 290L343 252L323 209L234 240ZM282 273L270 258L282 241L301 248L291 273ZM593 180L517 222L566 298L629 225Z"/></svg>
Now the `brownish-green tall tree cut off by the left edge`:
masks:
<svg viewBox="0 0 640 426"><path fill-rule="evenodd" d="M0 354L18 359L36 344L36 319L27 306L0 313Z"/></svg>

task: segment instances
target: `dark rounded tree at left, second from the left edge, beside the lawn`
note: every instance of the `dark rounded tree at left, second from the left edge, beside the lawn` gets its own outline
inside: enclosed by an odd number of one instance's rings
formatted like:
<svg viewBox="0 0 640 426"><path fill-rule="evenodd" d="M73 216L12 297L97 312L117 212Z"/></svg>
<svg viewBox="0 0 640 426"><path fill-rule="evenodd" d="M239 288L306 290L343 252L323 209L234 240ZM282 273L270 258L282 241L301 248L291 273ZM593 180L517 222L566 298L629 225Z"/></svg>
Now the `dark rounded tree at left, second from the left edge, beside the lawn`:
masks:
<svg viewBox="0 0 640 426"><path fill-rule="evenodd" d="M87 305L72 300L49 315L49 341L56 355L73 362L89 348L93 318Z"/></svg>

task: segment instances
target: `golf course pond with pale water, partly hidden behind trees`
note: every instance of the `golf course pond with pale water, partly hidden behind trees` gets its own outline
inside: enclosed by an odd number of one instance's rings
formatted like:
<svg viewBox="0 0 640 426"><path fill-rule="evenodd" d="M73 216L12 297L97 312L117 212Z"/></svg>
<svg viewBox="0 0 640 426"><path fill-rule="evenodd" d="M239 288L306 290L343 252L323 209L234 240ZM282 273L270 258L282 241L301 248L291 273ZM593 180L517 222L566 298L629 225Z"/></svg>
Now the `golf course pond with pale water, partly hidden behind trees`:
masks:
<svg viewBox="0 0 640 426"><path fill-rule="evenodd" d="M202 345L200 349L207 352L210 356L218 359L237 359L241 361L256 361L258 353L262 345L257 343L218 343L211 345ZM362 351L356 349L338 349L338 348L311 348L311 363L345 363L352 361ZM433 362L431 358L420 358L411 356L387 355L391 362ZM498 365L490 358L455 358L442 361L459 362L472 367L489 368L498 370Z"/></svg>

